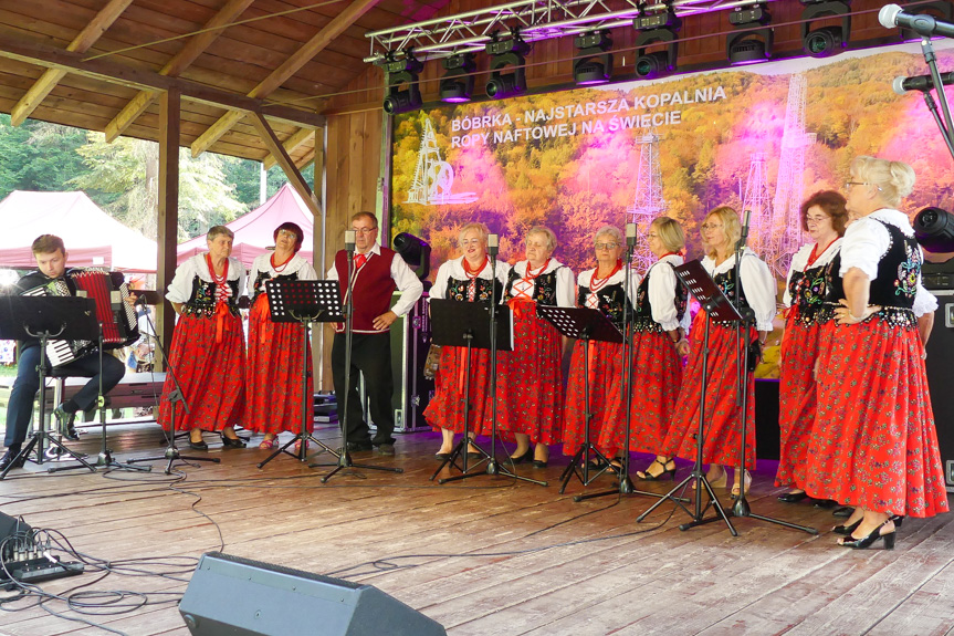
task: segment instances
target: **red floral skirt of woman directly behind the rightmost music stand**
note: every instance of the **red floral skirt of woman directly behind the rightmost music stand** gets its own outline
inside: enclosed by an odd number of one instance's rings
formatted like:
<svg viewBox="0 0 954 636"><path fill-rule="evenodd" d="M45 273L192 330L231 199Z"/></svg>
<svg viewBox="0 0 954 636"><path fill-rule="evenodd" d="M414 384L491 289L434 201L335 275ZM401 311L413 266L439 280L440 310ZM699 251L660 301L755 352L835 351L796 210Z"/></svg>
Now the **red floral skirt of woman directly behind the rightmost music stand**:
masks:
<svg viewBox="0 0 954 636"><path fill-rule="evenodd" d="M662 455L695 459L695 434L699 431L699 407L702 394L702 343L705 333L705 313L700 312L689 334L691 351L689 365L682 377L682 389L675 403ZM756 337L755 330L749 338ZM735 404L737 395L738 343L734 327L711 325L709 329L709 367L705 396L705 442L702 460L706 463L738 466L742 441L742 409ZM746 374L748 408L745 431L745 466L755 468L755 376Z"/></svg>

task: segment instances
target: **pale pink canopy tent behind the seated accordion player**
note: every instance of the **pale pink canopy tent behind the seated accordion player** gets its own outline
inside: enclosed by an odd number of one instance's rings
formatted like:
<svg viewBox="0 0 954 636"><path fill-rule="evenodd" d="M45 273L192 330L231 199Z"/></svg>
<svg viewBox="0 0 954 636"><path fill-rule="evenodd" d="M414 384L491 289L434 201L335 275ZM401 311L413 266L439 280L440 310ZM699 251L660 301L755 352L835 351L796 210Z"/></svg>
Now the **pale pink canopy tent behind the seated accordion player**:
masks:
<svg viewBox="0 0 954 636"><path fill-rule="evenodd" d="M0 265L8 268L35 268L33 241L56 234L72 267L156 271L156 241L101 210L85 192L15 190L0 201Z"/></svg>

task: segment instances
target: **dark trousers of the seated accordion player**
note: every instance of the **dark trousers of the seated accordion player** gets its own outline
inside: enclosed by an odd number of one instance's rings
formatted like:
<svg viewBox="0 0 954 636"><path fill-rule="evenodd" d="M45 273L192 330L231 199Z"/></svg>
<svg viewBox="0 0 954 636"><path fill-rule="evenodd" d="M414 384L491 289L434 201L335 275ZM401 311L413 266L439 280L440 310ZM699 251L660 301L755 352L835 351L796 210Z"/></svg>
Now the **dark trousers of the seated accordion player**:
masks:
<svg viewBox="0 0 954 636"><path fill-rule="evenodd" d="M17 366L17 379L10 392L10 403L7 406L7 437L3 440L8 447L20 446L27 439L27 429L33 419L33 400L40 390L40 376L36 366L40 364L40 347L31 346L20 353ZM50 364L50 361L46 361ZM91 378L86 385L73 396L73 402L80 410L86 410L96 403L99 395L99 354L85 355L70 364L56 368L57 375ZM103 355L103 395L109 393L126 375L126 367L112 355Z"/></svg>

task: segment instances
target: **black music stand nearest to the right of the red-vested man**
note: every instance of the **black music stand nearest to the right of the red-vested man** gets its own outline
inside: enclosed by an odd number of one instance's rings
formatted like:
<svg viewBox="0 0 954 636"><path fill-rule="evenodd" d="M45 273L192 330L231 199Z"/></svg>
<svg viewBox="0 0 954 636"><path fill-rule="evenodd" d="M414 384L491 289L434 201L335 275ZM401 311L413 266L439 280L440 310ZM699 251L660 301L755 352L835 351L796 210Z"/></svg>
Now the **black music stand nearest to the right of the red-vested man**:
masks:
<svg viewBox="0 0 954 636"><path fill-rule="evenodd" d="M493 456L485 451L475 440L470 438L470 375L471 375L471 352L475 348L491 350L491 345L495 344L497 351L513 351L513 324L510 307L500 305L496 307L496 320L494 321L494 338L495 343L491 342L491 322L489 314L491 311L492 301L479 302L461 302L449 299L431 299L431 342L440 346L464 347L466 350L466 359L464 361L464 392L463 392L463 418L464 418L464 435L463 438L454 446L451 453L444 459L438 469L431 475L431 481L443 470L444 466L451 465L461 471L461 475L439 479L438 483L447 483L448 481L457 481L466 479L475 475L493 475L486 470L476 471L484 461L491 462ZM470 463L468 446L473 446L480 457L474 460L473 466ZM463 457L463 461L458 463L458 459ZM516 476L514 476L516 477ZM530 480L527 480L530 481Z"/></svg>

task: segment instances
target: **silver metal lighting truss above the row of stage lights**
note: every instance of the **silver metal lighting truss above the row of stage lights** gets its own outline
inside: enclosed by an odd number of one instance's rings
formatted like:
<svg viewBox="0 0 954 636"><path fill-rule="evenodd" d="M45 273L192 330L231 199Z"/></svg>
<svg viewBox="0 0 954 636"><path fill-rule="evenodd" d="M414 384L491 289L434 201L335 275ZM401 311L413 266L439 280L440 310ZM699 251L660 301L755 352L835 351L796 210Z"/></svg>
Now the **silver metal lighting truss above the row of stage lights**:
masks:
<svg viewBox="0 0 954 636"><path fill-rule="evenodd" d="M522 40L533 43L631 28L641 15L657 19L669 11L685 17L754 7L764 10L768 1L775 0L618 0L610 8L606 0L515 0L367 33L370 54L365 62L378 64L392 51L405 49L413 49L421 56L427 53L428 60L480 52L499 31L518 29Z"/></svg>

